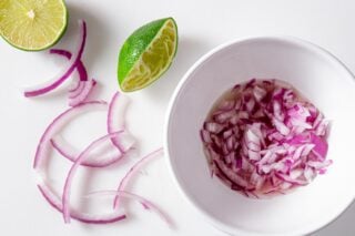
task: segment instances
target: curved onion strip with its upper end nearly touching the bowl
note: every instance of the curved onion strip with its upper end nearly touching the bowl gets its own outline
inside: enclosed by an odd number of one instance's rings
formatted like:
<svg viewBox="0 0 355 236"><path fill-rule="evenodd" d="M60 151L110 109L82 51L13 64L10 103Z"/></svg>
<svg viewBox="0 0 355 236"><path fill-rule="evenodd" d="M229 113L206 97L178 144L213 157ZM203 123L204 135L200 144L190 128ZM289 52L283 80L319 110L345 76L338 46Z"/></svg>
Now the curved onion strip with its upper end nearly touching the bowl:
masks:
<svg viewBox="0 0 355 236"><path fill-rule="evenodd" d="M131 170L125 174L125 176L121 179L120 185L118 187L119 192L125 191L126 185L129 184L129 182L132 179L132 177L134 177L134 175L151 160L163 155L163 148L158 148L155 151L153 151L152 153L148 154L146 156L144 156L143 158L141 158L138 163L135 163ZM119 195L115 196L115 198L113 199L113 208L118 208L120 204L120 197Z"/></svg>

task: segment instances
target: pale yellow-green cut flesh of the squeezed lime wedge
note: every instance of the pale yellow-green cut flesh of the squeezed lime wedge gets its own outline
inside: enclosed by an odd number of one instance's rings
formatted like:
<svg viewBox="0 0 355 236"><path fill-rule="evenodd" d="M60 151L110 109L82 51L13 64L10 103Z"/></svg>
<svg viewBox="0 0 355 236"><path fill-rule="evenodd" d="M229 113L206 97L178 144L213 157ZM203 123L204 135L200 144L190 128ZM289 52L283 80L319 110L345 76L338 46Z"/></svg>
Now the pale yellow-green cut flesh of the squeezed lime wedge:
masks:
<svg viewBox="0 0 355 236"><path fill-rule="evenodd" d="M163 22L162 27L126 72L126 76L120 76L119 68L119 83L122 91L133 92L150 85L172 64L178 49L178 27L172 18L160 21Z"/></svg>

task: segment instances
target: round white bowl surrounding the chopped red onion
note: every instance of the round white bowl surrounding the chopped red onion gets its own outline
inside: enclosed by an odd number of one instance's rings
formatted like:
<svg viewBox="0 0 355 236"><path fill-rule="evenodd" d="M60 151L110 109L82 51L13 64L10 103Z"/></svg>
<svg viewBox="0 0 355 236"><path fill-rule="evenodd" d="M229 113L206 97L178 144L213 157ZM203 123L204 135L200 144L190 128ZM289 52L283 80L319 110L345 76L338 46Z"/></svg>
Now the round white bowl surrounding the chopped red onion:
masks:
<svg viewBox="0 0 355 236"><path fill-rule="evenodd" d="M234 84L290 82L333 121L325 175L272 199L251 199L211 178L200 129L211 105ZM305 235L335 219L355 196L355 81L335 57L294 38L255 38L221 45L185 74L170 103L165 150L173 176L200 215L234 235Z"/></svg>

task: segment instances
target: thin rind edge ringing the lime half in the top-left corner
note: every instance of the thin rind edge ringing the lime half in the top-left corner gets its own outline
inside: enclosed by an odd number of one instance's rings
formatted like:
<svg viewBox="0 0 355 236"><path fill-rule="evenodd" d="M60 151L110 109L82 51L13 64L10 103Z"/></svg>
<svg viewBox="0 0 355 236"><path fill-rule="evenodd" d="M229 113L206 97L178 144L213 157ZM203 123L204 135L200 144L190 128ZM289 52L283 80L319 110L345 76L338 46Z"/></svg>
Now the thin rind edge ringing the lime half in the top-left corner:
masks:
<svg viewBox="0 0 355 236"><path fill-rule="evenodd" d="M17 44L17 43L14 43L14 42L12 42L12 40L11 39L9 39L9 37L8 35L6 35L6 33L3 32L3 30L1 29L1 23L2 23L2 20L3 20L3 18L4 18L4 7L3 6L6 6L9 1L11 1L11 0L4 0L4 1L2 1L1 3L0 3L0 35L1 35L1 38L6 41L6 42L8 42L10 45L12 45L13 48L17 48L17 49L19 49L19 50L22 50L22 51L43 51L43 50L47 50L47 49L49 49L49 48L51 48L52 45L54 45L55 43L58 43L58 41L63 37L63 34L65 33L65 31L67 31L67 29L68 29L68 20L69 20L69 14L68 14L68 9L67 9L67 6L65 6L65 3L64 3L64 1L62 1L62 0L59 0L58 2L60 3L60 7L62 8L62 18L63 18L63 20L62 20L62 22L63 22L63 24L62 24L62 28L60 28L60 29L58 29L57 30L57 35L55 37L53 37L53 40L51 40L49 43L47 43L47 44L43 44L43 45L41 45L41 47L36 47L36 48L30 48L30 47L22 47L22 45L19 45L19 44ZM24 2L24 1L22 1L22 2ZM20 4L20 1L18 1L18 3ZM29 7L29 6L22 6L23 8L24 7Z"/></svg>

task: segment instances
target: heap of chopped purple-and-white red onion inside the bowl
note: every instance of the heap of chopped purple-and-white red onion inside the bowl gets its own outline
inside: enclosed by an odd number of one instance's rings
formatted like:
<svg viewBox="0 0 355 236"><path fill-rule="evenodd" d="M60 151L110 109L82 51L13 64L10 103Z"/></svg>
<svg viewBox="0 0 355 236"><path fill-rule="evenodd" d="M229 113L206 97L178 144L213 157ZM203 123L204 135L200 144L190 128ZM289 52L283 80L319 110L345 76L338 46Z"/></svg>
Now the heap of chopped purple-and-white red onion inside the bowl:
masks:
<svg viewBox="0 0 355 236"><path fill-rule="evenodd" d="M251 80L213 105L200 131L212 175L260 198L324 174L328 121L291 85Z"/></svg>

